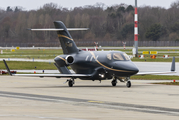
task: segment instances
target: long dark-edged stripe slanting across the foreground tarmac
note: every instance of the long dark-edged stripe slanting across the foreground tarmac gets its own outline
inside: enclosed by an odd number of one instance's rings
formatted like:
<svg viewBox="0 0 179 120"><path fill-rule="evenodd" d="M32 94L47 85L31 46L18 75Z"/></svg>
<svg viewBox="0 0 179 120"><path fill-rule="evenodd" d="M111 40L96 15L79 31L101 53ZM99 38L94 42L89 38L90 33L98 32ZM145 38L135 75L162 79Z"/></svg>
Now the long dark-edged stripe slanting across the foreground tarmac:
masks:
<svg viewBox="0 0 179 120"><path fill-rule="evenodd" d="M156 107L156 106L145 106L145 105L135 105L135 104L126 104L126 103L105 102L105 101L85 100L85 99L78 99L78 98L35 95L35 94L5 92L5 91L0 91L0 97L37 100L37 101L46 101L46 102L60 102L60 103L72 103L72 104L75 103L75 105L89 105L89 106L102 107L108 109L118 109L118 110L138 111L138 112L146 112L146 113L179 116L179 109Z"/></svg>

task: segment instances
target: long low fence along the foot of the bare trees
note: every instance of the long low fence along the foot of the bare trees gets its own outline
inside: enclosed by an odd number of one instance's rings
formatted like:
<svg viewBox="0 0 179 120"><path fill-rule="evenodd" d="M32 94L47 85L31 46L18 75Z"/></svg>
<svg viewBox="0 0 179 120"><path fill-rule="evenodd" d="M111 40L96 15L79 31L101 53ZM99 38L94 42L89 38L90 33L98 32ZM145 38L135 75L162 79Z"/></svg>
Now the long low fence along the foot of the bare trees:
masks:
<svg viewBox="0 0 179 120"><path fill-rule="evenodd" d="M94 41L76 41L78 47L95 46ZM123 46L122 41L99 41L99 46ZM132 47L134 41L126 41L126 46ZM179 41L138 41L139 47L171 47L179 46ZM0 47L59 47L60 42L51 43L0 43Z"/></svg>

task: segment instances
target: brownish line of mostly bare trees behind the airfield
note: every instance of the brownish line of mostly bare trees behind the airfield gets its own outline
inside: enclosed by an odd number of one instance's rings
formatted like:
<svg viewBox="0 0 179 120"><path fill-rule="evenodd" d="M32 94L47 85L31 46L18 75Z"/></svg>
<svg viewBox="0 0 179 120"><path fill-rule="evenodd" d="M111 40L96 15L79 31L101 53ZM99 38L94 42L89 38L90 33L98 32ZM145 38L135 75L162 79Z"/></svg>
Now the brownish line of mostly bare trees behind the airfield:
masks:
<svg viewBox="0 0 179 120"><path fill-rule="evenodd" d="M169 9L143 6L138 8L140 41L179 41L179 1ZM0 9L0 42L57 42L56 32L31 32L27 28L54 28L54 21L66 27L89 28L70 32L75 41L134 40L134 6L120 4L63 8L48 3L37 10L22 7Z"/></svg>

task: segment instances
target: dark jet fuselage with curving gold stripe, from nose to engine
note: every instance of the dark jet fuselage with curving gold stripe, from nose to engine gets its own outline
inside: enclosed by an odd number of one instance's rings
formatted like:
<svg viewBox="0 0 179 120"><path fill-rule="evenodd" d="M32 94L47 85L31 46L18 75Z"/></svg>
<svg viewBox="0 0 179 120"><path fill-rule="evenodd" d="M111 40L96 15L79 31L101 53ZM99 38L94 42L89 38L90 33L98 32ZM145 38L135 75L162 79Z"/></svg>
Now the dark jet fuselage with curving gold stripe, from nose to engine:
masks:
<svg viewBox="0 0 179 120"><path fill-rule="evenodd" d="M68 57L73 61L68 63ZM55 58L56 64L70 66L76 74L93 74L92 80L130 77L139 70L136 65L121 51L79 51L79 53L60 55Z"/></svg>

